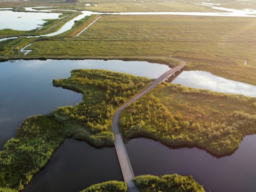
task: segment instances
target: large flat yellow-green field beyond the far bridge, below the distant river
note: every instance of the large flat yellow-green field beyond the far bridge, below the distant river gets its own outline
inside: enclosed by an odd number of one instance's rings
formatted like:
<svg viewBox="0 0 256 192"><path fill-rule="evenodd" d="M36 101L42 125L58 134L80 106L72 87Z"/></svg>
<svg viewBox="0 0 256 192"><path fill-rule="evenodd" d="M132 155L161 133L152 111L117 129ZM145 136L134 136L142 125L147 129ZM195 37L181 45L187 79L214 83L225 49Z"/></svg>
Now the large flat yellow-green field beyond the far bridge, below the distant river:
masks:
<svg viewBox="0 0 256 192"><path fill-rule="evenodd" d="M187 69L256 85L256 19L102 16L79 37L34 43L35 56L177 56Z"/></svg>

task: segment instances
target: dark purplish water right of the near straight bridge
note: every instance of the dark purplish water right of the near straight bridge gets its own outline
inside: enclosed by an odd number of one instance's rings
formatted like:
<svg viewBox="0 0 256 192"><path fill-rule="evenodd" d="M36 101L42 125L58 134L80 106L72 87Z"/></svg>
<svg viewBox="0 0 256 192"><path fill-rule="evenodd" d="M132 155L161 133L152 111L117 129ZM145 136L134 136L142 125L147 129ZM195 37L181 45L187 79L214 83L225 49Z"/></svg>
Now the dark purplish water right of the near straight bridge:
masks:
<svg viewBox="0 0 256 192"><path fill-rule="evenodd" d="M178 173L192 175L211 192L256 192L256 135L220 159L197 148L171 149L160 142L135 138L126 150L136 176Z"/></svg>

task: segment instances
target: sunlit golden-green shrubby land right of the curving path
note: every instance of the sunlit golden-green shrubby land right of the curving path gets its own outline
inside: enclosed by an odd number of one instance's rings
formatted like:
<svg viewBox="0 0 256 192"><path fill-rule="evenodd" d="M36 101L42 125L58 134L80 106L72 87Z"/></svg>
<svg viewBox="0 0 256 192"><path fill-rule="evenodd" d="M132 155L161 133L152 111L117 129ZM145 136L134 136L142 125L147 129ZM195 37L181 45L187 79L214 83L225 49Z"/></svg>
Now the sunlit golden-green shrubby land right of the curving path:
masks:
<svg viewBox="0 0 256 192"><path fill-rule="evenodd" d="M126 139L144 136L228 155L256 134L256 98L164 83L121 113L120 129Z"/></svg>

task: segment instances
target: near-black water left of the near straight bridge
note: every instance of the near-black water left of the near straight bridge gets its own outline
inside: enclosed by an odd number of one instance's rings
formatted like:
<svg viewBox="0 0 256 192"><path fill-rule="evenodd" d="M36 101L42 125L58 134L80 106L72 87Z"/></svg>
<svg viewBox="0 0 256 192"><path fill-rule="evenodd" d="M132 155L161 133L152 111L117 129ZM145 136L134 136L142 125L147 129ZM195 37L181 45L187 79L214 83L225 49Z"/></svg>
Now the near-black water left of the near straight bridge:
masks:
<svg viewBox="0 0 256 192"><path fill-rule="evenodd" d="M66 139L24 192L79 192L109 180L123 181L114 147L97 149Z"/></svg>

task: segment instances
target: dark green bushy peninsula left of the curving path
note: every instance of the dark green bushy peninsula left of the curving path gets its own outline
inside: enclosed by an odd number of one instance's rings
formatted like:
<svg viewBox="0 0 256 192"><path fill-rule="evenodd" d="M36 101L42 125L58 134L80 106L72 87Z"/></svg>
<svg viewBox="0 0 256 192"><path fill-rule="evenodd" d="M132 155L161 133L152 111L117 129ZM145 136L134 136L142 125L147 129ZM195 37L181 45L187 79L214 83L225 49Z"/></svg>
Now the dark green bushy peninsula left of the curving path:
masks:
<svg viewBox="0 0 256 192"><path fill-rule="evenodd" d="M56 87L82 93L83 100L48 115L29 117L19 126L0 151L0 191L23 190L65 138L113 145L113 113L151 81L104 70L73 70L70 78L53 80Z"/></svg>

